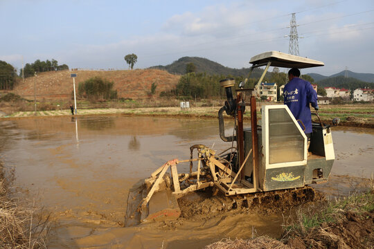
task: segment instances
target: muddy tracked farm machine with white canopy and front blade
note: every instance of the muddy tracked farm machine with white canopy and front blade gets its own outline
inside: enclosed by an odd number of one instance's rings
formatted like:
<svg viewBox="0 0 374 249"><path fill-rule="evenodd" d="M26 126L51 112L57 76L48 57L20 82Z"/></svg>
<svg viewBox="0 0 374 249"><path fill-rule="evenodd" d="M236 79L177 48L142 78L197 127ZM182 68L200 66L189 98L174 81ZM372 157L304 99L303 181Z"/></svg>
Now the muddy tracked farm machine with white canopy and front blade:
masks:
<svg viewBox="0 0 374 249"><path fill-rule="evenodd" d="M227 98L218 112L220 138L228 142L229 149L217 154L205 145L193 145L190 158L169 160L149 178L139 181L129 192L125 226L177 219L181 215L178 199L197 190L209 190L213 197L229 199L229 205L248 206L269 194L282 198L287 192L306 193L312 189L308 187L311 183L328 180L335 160L334 147L330 126L323 124L318 114L319 122L312 123L308 149L303 125L286 105L262 104L260 122L256 111L260 83L269 66L310 68L323 66L323 62L270 51L252 57L249 63L249 76L254 68L265 66L255 88L244 89L240 82L234 96L235 81L220 81ZM243 126L246 109L251 114L249 129ZM225 134L224 113L235 120L232 136ZM182 163L189 164L189 172L180 172Z"/></svg>

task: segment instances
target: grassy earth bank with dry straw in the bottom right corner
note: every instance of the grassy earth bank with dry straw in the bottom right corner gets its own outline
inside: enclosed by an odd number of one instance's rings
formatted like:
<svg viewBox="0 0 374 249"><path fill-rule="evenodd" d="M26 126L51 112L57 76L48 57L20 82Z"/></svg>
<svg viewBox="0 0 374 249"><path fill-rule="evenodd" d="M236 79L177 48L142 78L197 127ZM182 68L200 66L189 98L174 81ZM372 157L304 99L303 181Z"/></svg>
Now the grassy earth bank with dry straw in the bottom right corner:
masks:
<svg viewBox="0 0 374 249"><path fill-rule="evenodd" d="M283 227L283 238L223 239L205 249L373 248L374 192L299 208Z"/></svg>

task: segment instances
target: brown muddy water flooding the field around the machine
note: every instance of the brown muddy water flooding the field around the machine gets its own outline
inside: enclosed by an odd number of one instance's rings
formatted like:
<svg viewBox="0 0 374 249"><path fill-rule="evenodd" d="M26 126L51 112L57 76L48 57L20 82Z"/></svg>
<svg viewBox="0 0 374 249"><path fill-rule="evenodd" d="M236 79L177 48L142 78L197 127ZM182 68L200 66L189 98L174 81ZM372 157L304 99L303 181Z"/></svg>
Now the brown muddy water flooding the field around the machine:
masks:
<svg viewBox="0 0 374 249"><path fill-rule="evenodd" d="M224 237L281 233L281 214L250 212L123 228L136 181L167 160L189 158L190 145L229 147L217 120L62 117L0 121L0 127L1 160L15 168L15 185L55 214L50 248L202 248ZM334 129L333 176L317 187L332 195L361 187L361 177L374 172L373 138L368 129Z"/></svg>

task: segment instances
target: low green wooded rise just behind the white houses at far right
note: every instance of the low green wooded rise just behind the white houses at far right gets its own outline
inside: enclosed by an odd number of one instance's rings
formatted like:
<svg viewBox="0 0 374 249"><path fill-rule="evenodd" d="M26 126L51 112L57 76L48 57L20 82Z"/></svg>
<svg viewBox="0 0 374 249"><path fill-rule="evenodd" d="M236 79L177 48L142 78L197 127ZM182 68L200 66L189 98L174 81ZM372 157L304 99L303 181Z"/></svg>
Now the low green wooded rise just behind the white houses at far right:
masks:
<svg viewBox="0 0 374 249"><path fill-rule="evenodd" d="M319 80L317 82L319 86L326 87L326 86L334 86L337 88L345 88L345 89L357 89L357 88L369 88L374 89L374 83L372 82L363 82L361 80L357 80L353 77L344 77L344 76L337 76L337 77L328 77L324 80Z"/></svg>

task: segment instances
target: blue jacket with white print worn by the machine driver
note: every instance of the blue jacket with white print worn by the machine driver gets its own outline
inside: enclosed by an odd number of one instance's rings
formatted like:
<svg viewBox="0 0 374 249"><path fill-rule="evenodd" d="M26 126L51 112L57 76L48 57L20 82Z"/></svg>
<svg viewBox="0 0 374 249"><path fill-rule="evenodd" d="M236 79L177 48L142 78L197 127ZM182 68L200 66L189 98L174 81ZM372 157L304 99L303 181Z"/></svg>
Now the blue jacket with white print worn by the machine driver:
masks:
<svg viewBox="0 0 374 249"><path fill-rule="evenodd" d="M290 108L296 120L301 120L305 125L305 133L311 133L312 117L309 103L312 104L312 107L318 107L317 93L314 91L312 84L299 77L294 77L285 85L283 96L285 104ZM303 125L300 126L301 129L304 129Z"/></svg>

